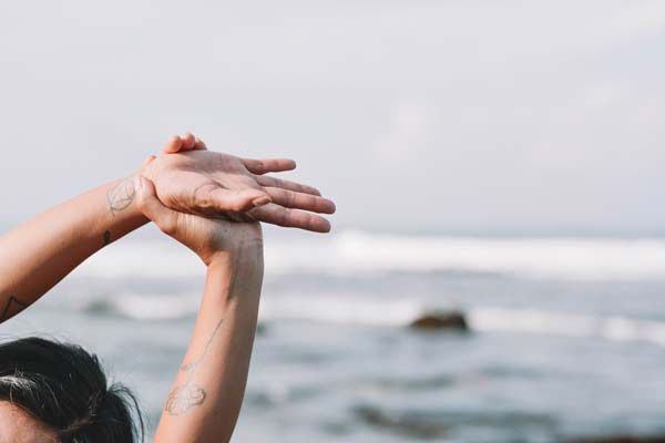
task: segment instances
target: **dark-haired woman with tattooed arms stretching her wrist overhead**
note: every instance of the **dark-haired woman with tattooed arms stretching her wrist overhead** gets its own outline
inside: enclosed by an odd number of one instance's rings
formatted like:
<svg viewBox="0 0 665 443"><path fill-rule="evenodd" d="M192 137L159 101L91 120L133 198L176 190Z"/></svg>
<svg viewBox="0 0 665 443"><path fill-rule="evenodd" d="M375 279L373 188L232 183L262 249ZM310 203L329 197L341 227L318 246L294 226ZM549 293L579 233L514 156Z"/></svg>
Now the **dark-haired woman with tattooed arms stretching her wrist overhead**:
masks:
<svg viewBox="0 0 665 443"><path fill-rule="evenodd" d="M244 395L263 279L258 220L329 230L332 202L264 175L285 159L241 159L174 137L139 174L93 189L0 237L0 321L27 308L109 243L147 220L207 267L194 333L155 442L231 439ZM305 209L305 210L299 210ZM308 212L306 212L308 210ZM245 223L234 223L245 222ZM0 346L0 442L134 442L142 421L96 357L38 338Z"/></svg>

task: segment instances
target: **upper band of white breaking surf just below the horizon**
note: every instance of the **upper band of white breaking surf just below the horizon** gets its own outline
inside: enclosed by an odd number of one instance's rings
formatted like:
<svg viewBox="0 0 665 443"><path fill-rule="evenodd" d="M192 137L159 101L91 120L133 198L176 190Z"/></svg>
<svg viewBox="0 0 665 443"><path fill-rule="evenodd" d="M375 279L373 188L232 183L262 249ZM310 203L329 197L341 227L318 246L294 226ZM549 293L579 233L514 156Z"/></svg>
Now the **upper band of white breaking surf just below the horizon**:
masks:
<svg viewBox="0 0 665 443"><path fill-rule="evenodd" d="M665 279L665 239L416 237L347 231L266 241L268 274L444 270L560 279ZM192 253L175 243L129 240L91 258L78 274L190 277L202 276L203 268Z"/></svg>

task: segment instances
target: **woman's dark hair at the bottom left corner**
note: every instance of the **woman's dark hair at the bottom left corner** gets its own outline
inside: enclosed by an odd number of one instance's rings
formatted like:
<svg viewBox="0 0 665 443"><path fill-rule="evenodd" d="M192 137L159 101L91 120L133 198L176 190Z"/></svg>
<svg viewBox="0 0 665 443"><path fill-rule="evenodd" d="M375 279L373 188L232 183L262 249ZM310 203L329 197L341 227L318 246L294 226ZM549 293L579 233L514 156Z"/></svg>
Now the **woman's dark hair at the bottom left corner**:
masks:
<svg viewBox="0 0 665 443"><path fill-rule="evenodd" d="M109 387L96 356L75 344L37 337L0 344L2 400L52 429L62 443L143 439L134 395L121 384Z"/></svg>

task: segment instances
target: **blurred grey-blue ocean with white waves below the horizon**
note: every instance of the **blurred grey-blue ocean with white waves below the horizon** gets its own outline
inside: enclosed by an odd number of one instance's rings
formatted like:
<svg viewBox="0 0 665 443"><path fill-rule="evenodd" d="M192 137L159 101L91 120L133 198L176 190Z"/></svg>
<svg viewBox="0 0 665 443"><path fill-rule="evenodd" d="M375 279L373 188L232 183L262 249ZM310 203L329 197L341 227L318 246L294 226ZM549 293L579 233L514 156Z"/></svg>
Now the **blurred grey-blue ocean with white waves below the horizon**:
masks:
<svg viewBox="0 0 665 443"><path fill-rule="evenodd" d="M665 434L665 239L266 235L234 442L567 442ZM96 352L157 423L204 269L108 247L18 318ZM468 332L415 330L459 311ZM150 439L149 439L150 440Z"/></svg>

